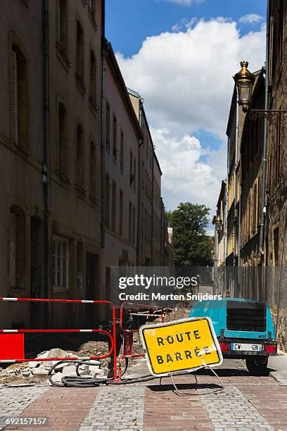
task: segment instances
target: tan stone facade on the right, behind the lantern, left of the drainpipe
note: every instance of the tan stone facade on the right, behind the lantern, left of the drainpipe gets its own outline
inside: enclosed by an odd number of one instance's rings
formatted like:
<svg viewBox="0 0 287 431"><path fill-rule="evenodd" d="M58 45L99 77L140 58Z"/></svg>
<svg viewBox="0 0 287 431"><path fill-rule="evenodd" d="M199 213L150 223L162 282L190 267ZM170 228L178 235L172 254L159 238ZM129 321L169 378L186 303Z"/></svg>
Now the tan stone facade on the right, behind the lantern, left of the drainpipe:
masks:
<svg viewBox="0 0 287 431"><path fill-rule="evenodd" d="M256 74L250 108L264 109L264 73ZM262 156L264 120L250 120L246 115L241 135L241 237L240 293L244 298L264 301L263 259L260 253L260 221L262 210Z"/></svg>

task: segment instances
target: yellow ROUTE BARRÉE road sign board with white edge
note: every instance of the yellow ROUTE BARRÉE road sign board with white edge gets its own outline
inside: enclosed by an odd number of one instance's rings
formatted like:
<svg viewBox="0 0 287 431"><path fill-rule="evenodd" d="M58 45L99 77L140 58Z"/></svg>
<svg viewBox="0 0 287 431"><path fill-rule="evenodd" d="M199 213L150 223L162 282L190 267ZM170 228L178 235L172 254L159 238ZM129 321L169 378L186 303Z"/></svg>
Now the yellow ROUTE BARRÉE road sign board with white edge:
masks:
<svg viewBox="0 0 287 431"><path fill-rule="evenodd" d="M188 318L140 328L151 374L163 376L222 363L210 318Z"/></svg>

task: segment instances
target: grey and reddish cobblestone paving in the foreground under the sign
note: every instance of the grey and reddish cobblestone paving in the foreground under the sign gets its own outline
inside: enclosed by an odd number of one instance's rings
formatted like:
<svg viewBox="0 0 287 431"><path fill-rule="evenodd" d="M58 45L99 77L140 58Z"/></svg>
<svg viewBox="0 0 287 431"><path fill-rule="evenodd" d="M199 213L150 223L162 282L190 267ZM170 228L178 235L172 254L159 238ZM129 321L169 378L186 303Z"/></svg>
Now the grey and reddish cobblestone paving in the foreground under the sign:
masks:
<svg viewBox="0 0 287 431"><path fill-rule="evenodd" d="M129 375L146 374L143 359ZM208 371L127 386L58 388L46 385L1 387L0 429L36 430L5 425L7 417L47 418L53 430L286 430L287 386L273 377L253 377L243 361L226 360L217 368L224 382Z"/></svg>

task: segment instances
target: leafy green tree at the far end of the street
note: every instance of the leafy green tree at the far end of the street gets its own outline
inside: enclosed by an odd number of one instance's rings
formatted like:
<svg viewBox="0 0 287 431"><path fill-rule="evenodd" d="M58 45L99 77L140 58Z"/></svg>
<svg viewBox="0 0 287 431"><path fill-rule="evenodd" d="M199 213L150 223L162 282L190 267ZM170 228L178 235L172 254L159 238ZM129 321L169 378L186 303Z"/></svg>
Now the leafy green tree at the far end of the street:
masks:
<svg viewBox="0 0 287 431"><path fill-rule="evenodd" d="M206 234L209 212L205 205L185 202L167 213L175 266L212 266L212 239Z"/></svg>

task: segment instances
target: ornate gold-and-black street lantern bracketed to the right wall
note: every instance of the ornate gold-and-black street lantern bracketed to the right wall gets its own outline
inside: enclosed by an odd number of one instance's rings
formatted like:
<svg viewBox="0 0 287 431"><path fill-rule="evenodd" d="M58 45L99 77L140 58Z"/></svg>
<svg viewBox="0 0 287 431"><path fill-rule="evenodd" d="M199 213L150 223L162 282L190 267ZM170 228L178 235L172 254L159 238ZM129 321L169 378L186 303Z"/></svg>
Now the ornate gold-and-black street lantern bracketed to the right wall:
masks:
<svg viewBox="0 0 287 431"><path fill-rule="evenodd" d="M241 61L240 65L241 70L233 78L238 91L238 105L242 106L243 112L247 112L255 76L248 70L248 61Z"/></svg>

